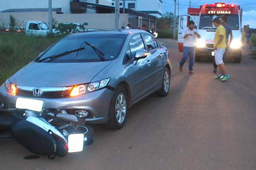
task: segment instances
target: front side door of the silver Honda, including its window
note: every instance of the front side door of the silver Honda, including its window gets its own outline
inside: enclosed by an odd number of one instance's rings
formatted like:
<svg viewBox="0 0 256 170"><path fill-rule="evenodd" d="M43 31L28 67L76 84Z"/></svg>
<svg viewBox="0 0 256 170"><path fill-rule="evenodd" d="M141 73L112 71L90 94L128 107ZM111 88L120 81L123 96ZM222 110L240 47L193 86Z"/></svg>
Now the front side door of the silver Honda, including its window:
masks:
<svg viewBox="0 0 256 170"><path fill-rule="evenodd" d="M148 78L151 73L151 64L148 64L148 57L134 61L136 51L145 49L141 34L135 34L130 39L124 57L124 73L131 85L131 100L133 103L148 94L152 83Z"/></svg>

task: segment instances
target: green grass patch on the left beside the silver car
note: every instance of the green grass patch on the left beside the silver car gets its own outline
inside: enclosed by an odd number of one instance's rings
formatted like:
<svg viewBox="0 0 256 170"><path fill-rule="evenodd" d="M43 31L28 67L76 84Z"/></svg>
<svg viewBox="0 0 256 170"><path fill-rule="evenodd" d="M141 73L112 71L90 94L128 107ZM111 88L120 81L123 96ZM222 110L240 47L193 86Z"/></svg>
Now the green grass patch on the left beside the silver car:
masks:
<svg viewBox="0 0 256 170"><path fill-rule="evenodd" d="M0 34L0 85L62 37Z"/></svg>

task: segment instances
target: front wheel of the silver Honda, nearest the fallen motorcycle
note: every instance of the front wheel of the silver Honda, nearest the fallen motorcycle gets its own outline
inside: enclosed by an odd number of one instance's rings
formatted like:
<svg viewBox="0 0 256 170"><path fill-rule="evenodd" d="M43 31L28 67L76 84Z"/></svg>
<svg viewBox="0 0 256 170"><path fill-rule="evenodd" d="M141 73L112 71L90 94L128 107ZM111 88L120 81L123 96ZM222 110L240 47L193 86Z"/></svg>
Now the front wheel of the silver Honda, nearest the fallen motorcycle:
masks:
<svg viewBox="0 0 256 170"><path fill-rule="evenodd" d="M128 109L127 94L122 86L118 86L111 99L107 127L113 130L121 129L126 122Z"/></svg>

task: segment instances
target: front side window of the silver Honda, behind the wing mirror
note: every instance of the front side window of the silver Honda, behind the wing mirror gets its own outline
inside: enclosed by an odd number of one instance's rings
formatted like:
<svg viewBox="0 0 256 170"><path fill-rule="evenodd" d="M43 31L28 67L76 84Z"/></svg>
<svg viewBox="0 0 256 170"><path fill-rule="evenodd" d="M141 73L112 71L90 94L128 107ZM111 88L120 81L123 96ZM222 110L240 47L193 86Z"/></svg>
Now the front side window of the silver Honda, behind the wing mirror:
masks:
<svg viewBox="0 0 256 170"><path fill-rule="evenodd" d="M135 53L137 50L145 50L145 45L143 43L142 37L140 34L136 34L133 37L131 37L129 47L131 50L131 57L135 57Z"/></svg>

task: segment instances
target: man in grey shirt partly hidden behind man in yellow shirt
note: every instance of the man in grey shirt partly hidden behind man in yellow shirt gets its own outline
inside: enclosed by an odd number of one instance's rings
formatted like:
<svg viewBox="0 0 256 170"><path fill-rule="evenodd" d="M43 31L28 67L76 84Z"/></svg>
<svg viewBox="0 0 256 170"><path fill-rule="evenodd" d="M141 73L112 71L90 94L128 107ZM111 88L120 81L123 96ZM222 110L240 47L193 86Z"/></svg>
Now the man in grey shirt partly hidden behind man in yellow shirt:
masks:
<svg viewBox="0 0 256 170"><path fill-rule="evenodd" d="M230 28L230 26L227 25L227 17L226 16L221 17L221 25L224 26L225 31L226 31L226 46L227 46L227 48L223 55L223 62L226 65L227 50L230 47L230 44L233 40L233 34L232 34L232 29ZM229 37L230 37L230 39L229 39ZM213 65L214 65L213 72L216 73L218 66L216 65L215 60L214 60Z"/></svg>

